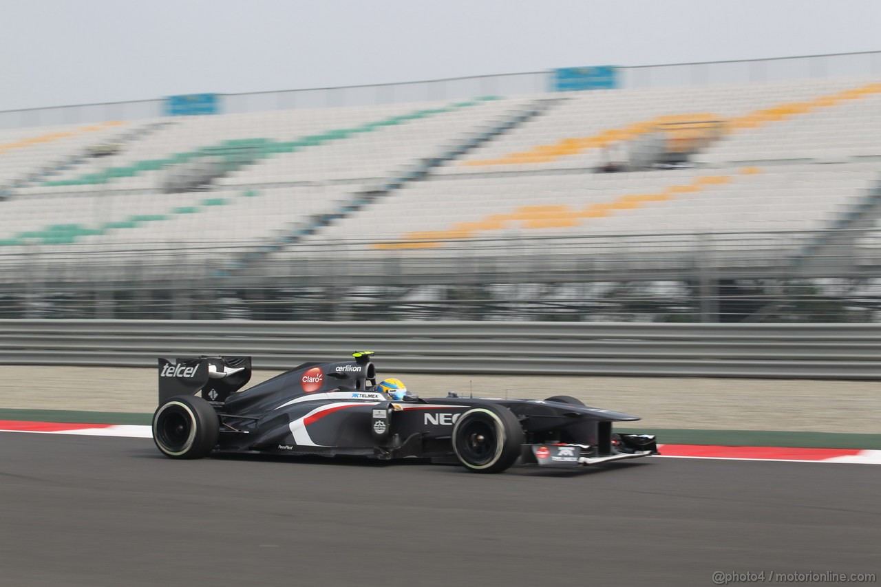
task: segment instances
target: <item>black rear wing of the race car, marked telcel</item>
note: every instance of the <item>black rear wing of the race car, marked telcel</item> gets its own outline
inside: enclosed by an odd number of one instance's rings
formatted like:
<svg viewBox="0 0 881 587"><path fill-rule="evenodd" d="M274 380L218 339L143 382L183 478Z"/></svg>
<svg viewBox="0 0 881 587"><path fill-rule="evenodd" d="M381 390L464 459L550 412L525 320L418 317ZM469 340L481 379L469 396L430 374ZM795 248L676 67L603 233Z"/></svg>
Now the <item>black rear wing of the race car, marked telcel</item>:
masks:
<svg viewBox="0 0 881 587"><path fill-rule="evenodd" d="M251 379L251 358L237 356L159 359L159 404L195 395L222 404Z"/></svg>

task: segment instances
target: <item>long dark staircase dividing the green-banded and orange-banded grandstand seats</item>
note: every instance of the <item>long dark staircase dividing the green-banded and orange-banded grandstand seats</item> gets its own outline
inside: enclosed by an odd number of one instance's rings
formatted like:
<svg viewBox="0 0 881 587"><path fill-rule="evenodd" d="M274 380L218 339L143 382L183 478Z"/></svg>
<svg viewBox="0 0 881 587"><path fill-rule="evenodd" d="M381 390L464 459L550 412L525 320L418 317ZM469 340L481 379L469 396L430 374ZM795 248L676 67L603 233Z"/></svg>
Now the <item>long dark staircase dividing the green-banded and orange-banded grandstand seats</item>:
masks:
<svg viewBox="0 0 881 587"><path fill-rule="evenodd" d="M398 189L403 189L411 182L418 182L431 174L434 168L441 166L449 160L456 160L468 152L484 145L488 141L514 130L534 118L545 115L568 100L567 98L542 98L531 100L524 104L519 112L506 116L493 123L478 127L466 133L465 137L456 138L455 141L444 146L433 157L419 160L417 163L404 168L396 169L389 173L389 179L379 185L357 191L351 197L338 201L336 208L329 212L316 215L307 222L296 222L282 231L278 231L270 240L258 245L255 249L242 253L237 258L226 264L226 267L218 271L218 277L231 277L234 273L245 270L249 264L259 261L271 253L278 252L285 247L297 244L303 238L316 234L323 227L328 227L337 219L345 218L355 212L363 210L383 197L388 197Z"/></svg>

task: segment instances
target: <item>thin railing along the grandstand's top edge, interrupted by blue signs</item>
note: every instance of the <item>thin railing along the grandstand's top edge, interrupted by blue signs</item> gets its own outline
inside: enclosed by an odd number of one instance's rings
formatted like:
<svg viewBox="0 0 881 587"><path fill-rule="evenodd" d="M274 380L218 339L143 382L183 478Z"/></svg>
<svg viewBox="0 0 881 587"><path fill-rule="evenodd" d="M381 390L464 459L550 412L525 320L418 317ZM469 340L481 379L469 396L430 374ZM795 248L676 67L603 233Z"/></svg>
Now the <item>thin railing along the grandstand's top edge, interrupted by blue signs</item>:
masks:
<svg viewBox="0 0 881 587"><path fill-rule="evenodd" d="M743 84L801 78L881 75L881 51L771 57L737 61L635 65L618 68L624 89ZM293 108L336 108L404 102L516 96L552 91L553 71L349 85L276 92L222 94L225 114ZM164 100L130 100L0 112L0 129L139 120L164 115Z"/></svg>

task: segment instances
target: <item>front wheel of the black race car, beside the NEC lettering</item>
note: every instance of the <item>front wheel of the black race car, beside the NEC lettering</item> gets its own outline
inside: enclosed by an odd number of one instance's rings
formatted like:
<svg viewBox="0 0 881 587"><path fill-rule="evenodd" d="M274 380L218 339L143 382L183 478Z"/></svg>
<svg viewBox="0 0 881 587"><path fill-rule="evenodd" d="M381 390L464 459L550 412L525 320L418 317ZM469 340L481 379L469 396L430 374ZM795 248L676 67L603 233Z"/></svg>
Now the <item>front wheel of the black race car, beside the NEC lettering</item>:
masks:
<svg viewBox="0 0 881 587"><path fill-rule="evenodd" d="M520 457L523 441L520 421L500 405L475 405L453 427L453 451L471 472L505 471Z"/></svg>

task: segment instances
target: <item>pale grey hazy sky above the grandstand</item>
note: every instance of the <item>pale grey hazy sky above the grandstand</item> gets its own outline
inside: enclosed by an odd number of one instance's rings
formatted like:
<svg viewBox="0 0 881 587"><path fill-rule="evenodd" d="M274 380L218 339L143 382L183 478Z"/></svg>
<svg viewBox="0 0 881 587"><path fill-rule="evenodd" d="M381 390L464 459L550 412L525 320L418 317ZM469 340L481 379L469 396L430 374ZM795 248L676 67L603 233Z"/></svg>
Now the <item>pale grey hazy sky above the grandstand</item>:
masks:
<svg viewBox="0 0 881 587"><path fill-rule="evenodd" d="M881 50L877 0L0 0L0 110Z"/></svg>

